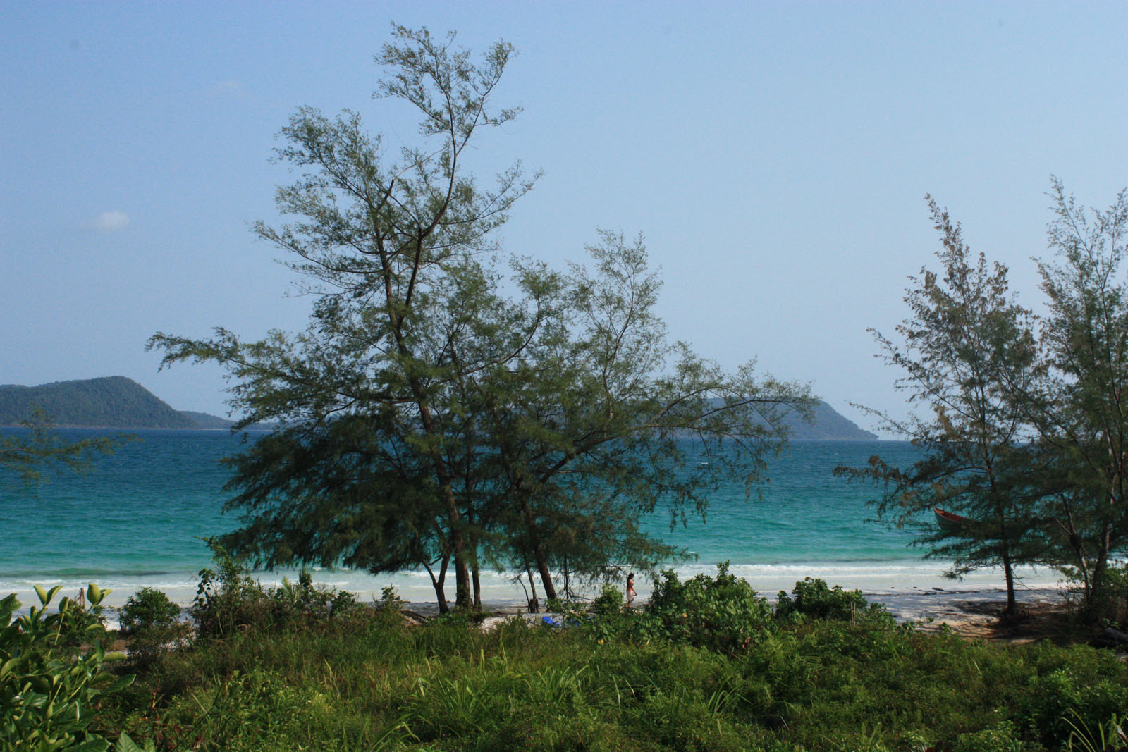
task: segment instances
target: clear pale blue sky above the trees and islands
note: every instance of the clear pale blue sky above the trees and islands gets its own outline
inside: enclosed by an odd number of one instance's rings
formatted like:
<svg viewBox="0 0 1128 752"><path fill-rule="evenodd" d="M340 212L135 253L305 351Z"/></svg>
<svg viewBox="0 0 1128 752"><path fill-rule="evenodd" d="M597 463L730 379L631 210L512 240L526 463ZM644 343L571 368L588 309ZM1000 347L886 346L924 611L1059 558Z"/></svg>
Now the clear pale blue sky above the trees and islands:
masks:
<svg viewBox="0 0 1128 752"><path fill-rule="evenodd" d="M671 337L810 383L866 428L900 416L893 334L935 267L925 194L1038 308L1050 176L1128 185L1128 2L0 3L0 383L126 375L226 415L223 371L159 370L157 331L305 327L271 161L300 106L371 97L391 23L512 43L474 154L543 170L499 240L554 266L644 233Z"/></svg>

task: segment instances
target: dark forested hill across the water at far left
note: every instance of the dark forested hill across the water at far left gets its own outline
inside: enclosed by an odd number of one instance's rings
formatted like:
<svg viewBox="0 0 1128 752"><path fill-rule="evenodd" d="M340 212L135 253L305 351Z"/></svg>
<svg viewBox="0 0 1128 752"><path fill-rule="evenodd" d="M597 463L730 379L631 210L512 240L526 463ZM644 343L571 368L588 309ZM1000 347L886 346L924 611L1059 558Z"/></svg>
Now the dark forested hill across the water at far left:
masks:
<svg viewBox="0 0 1128 752"><path fill-rule="evenodd" d="M148 389L125 377L0 386L0 425L16 425L43 408L58 426L195 428Z"/></svg>

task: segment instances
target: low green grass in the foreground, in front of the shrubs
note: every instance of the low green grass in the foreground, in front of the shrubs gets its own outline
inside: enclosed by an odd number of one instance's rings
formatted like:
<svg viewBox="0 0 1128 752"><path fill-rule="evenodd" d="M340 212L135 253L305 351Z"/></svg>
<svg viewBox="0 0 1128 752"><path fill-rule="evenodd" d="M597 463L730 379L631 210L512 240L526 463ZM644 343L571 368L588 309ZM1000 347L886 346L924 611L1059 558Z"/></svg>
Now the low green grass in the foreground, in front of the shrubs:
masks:
<svg viewBox="0 0 1128 752"><path fill-rule="evenodd" d="M990 752L1089 749L1128 708L1125 665L1082 645L802 614L747 644L730 618L719 643L649 619L483 632L361 610L236 631L160 655L97 723L164 750Z"/></svg>

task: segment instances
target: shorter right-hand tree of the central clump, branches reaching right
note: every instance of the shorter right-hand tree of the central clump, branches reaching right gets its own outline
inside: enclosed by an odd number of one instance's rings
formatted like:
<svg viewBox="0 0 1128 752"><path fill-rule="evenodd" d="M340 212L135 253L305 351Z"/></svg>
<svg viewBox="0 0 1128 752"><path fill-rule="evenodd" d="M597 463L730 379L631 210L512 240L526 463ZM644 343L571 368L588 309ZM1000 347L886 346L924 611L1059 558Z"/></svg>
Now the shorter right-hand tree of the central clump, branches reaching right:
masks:
<svg viewBox="0 0 1128 752"><path fill-rule="evenodd" d="M554 570L598 578L608 563L684 555L643 534L642 516L704 514L719 483L755 480L782 446L783 414L810 402L752 364L726 373L670 344L641 237L605 231L588 251L593 268L573 267L558 325L511 364L485 416L512 563L536 569L548 598Z"/></svg>

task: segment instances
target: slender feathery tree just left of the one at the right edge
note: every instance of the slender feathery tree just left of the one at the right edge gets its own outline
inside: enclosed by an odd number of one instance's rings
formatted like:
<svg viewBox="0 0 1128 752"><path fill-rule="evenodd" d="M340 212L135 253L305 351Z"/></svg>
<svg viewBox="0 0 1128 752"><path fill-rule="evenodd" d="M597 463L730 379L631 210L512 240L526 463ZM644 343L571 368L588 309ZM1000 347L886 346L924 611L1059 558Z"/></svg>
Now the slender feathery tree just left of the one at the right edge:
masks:
<svg viewBox="0 0 1128 752"><path fill-rule="evenodd" d="M928 556L951 559L951 575L1001 566L1012 613L1014 565L1045 550L1032 514L1037 495L1031 497L1026 483L1030 425L1013 399L1037 375L1032 319L1014 302L1006 267L988 264L982 254L973 257L960 225L927 201L941 235L941 272L925 268L911 278L909 316L897 327L900 342L874 333L885 361L905 373L898 388L926 409L926 416L907 421L885 417L885 425L923 455L910 468L874 457L869 468L836 472L882 484L879 515L898 527L916 525L916 542L928 547ZM973 523L937 527L933 507Z"/></svg>

